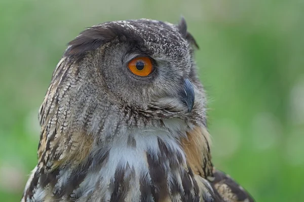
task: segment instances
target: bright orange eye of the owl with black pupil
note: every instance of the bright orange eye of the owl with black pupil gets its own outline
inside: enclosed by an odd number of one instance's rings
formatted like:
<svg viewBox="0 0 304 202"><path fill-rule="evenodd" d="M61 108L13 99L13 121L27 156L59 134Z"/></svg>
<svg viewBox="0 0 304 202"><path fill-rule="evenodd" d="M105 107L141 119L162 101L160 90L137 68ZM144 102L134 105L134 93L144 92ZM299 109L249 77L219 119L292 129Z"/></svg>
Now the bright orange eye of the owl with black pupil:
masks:
<svg viewBox="0 0 304 202"><path fill-rule="evenodd" d="M134 58L129 62L128 67L137 76L147 76L153 70L151 60L148 57Z"/></svg>

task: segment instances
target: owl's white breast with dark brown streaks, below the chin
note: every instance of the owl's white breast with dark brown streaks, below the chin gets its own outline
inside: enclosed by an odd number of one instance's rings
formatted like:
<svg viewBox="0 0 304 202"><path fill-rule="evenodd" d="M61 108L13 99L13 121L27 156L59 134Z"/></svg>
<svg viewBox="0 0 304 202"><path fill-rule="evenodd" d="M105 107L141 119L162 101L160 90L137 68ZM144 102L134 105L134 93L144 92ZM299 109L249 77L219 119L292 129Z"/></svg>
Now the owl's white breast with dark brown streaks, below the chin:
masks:
<svg viewBox="0 0 304 202"><path fill-rule="evenodd" d="M52 171L53 179L41 176L33 198L208 201L207 181L194 174L176 141L186 134L187 126L182 123L175 119L164 121L163 128L121 131L110 147L95 145L81 167Z"/></svg>

